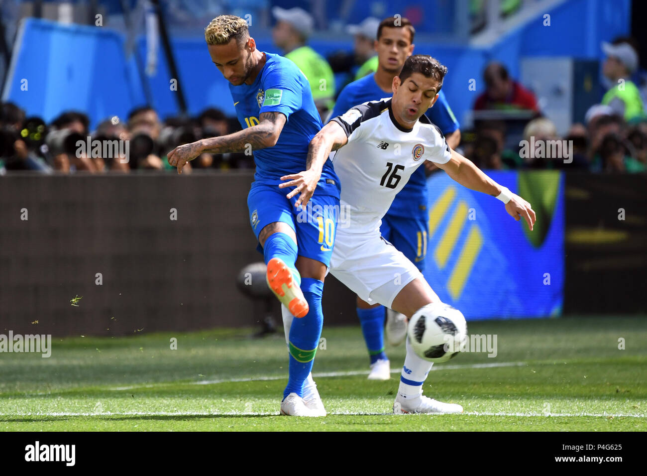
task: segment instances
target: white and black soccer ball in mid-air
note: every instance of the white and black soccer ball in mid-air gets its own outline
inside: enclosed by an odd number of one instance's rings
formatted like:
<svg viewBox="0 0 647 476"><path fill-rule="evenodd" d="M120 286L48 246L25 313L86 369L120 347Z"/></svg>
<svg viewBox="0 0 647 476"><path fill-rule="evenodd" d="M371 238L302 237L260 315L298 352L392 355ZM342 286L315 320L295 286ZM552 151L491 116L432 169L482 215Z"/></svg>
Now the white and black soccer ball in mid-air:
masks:
<svg viewBox="0 0 647 476"><path fill-rule="evenodd" d="M417 356L430 362L446 362L464 348L467 323L456 308L433 302L413 314L407 334Z"/></svg>

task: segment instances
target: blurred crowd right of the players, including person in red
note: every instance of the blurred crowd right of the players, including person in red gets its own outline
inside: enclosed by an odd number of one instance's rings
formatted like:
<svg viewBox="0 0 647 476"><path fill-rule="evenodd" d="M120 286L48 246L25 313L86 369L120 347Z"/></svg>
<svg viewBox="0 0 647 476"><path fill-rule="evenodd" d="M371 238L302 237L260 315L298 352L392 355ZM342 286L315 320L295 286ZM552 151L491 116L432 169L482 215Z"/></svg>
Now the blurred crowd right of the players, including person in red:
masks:
<svg viewBox="0 0 647 476"><path fill-rule="evenodd" d="M588 109L584 123L573 124L563 137L551 120L542 117L531 91L510 78L504 65L488 64L483 73L486 91L477 97L474 111L527 111L532 118L514 144L507 141L509 120L476 120L474 130L463 135L461 142L466 157L484 169L645 172L645 91L631 80L639 69L637 45L623 37L602 43L602 50L608 90L600 104Z"/></svg>

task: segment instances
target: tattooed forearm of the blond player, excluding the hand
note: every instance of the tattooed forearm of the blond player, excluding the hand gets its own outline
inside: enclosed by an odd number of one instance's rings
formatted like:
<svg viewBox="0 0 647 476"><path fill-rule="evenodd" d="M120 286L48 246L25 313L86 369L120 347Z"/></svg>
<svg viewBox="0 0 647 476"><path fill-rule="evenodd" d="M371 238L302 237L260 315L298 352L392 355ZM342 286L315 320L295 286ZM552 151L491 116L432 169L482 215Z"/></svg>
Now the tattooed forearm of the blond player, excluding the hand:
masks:
<svg viewBox="0 0 647 476"><path fill-rule="evenodd" d="M285 124L285 115L278 112L262 113L259 124L233 134L212 137L201 141L204 151L208 153L245 152L249 146L252 150L270 147L275 135L281 133Z"/></svg>

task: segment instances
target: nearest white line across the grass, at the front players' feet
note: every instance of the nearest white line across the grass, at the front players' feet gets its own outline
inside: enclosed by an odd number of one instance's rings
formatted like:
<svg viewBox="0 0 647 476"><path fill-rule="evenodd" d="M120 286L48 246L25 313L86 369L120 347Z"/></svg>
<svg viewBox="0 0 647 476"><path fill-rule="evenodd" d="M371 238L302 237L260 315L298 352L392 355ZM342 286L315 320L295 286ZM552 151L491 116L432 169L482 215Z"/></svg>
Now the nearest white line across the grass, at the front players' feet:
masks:
<svg viewBox="0 0 647 476"><path fill-rule="evenodd" d="M389 415L393 413L369 413L369 412L332 412L329 415ZM35 412L35 413L0 413L0 416L278 416L278 412L258 412L258 413L245 413L245 412L222 412L222 413L205 413L205 412L144 412L144 411L126 411L126 412ZM509 413L509 412L466 412L463 415L471 416L594 416L594 417L628 417L628 418L647 418L645 414L627 414L627 413ZM400 415L399 415L400 416ZM417 416L422 416L418 414ZM438 416L430 414L429 416Z"/></svg>

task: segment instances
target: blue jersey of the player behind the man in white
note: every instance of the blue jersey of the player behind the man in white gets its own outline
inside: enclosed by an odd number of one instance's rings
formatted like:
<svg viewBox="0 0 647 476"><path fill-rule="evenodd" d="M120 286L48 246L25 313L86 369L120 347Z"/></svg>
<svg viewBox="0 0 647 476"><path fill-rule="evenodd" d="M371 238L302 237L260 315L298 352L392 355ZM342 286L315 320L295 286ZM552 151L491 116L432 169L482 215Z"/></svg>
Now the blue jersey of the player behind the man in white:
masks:
<svg viewBox="0 0 647 476"><path fill-rule="evenodd" d="M334 105L331 117L344 114L348 109L366 101L375 101L391 97L393 93L382 91L375 82L375 73L368 74L359 80L344 87ZM454 132L460 126L447 104L443 91L438 94L438 100L433 108L428 109L425 115L446 135ZM427 178L424 167L419 167L409 179L408 183L395 196L386 216L399 216L404 218L427 217ZM396 246L397 247L397 246ZM402 250L400 250L402 251Z"/></svg>

